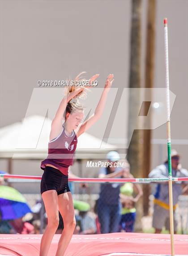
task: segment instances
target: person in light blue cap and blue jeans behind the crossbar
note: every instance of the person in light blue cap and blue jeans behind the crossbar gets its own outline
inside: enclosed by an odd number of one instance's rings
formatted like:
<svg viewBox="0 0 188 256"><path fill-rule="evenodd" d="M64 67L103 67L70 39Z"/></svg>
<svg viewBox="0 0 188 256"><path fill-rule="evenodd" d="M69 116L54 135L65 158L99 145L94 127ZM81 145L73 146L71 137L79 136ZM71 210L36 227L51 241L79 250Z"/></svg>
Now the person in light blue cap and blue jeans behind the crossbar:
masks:
<svg viewBox="0 0 188 256"><path fill-rule="evenodd" d="M120 178L124 170L115 167L120 160L120 155L116 151L107 154L107 167L102 167L99 171L99 178ZM98 220L102 234L118 232L121 219L120 183L105 182L101 184L99 198L97 202Z"/></svg>

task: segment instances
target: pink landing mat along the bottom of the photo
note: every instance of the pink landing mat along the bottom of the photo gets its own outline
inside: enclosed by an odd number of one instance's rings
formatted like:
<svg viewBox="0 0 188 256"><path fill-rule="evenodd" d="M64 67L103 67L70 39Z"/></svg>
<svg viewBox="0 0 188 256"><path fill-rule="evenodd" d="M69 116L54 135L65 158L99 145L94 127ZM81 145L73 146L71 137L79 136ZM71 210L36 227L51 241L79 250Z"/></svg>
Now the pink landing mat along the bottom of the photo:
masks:
<svg viewBox="0 0 188 256"><path fill-rule="evenodd" d="M42 235L0 234L0 256L38 256ZM48 256L55 256L55 235ZM188 255L188 235L175 235L175 255ZM111 233L73 235L64 256L169 256L169 234Z"/></svg>

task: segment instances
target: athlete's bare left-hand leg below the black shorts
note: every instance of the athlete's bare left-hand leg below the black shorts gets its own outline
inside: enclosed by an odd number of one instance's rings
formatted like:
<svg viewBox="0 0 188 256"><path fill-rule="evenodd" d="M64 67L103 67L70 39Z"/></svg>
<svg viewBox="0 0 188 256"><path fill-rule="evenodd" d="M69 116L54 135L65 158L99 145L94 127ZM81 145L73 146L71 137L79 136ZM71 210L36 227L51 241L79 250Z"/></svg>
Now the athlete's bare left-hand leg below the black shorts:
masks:
<svg viewBox="0 0 188 256"><path fill-rule="evenodd" d="M40 244L40 256L47 256L51 240L59 225L59 208L56 190L48 190L42 193L44 206L47 212L47 228Z"/></svg>

